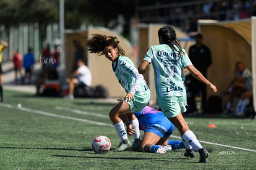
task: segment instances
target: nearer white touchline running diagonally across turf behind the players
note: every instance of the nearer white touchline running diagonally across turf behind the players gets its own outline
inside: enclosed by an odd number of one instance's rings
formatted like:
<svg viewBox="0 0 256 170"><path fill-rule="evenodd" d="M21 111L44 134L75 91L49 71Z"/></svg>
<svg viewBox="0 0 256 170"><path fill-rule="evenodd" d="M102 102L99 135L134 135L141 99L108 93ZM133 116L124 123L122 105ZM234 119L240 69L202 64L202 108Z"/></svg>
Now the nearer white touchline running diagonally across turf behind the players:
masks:
<svg viewBox="0 0 256 170"><path fill-rule="evenodd" d="M39 114L39 115L51 116L51 117L54 117L54 118L71 119L71 120L74 120L74 121L82 121L82 122L85 122L85 123L92 123L92 124L97 124L97 125L101 125L101 126L112 126L111 124L100 123L100 122L97 122L97 121L90 121L90 120L87 120L87 119L74 118L74 117L71 117L71 116L63 116L63 115L58 115L58 114L54 114L54 113L49 113L49 112L46 112L46 111L34 110L34 109L30 109L30 108L16 107L16 106L9 105L9 104L6 104L6 103L0 103L0 107L14 108L14 109L17 109L17 110L27 111L27 112L30 112L30 113L36 113L36 114ZM171 136L171 137L181 139L181 137L179 137L179 136ZM245 151L249 151L249 152L256 152L256 150L252 150L252 149L241 148L241 147L233 147L233 146L230 146L230 145L217 144L217 143L207 142L207 141L202 141L202 140L199 140L199 142L205 143L205 144L210 144L210 145L218 145L218 146L221 146L221 147L235 148L237 150L245 150Z"/></svg>

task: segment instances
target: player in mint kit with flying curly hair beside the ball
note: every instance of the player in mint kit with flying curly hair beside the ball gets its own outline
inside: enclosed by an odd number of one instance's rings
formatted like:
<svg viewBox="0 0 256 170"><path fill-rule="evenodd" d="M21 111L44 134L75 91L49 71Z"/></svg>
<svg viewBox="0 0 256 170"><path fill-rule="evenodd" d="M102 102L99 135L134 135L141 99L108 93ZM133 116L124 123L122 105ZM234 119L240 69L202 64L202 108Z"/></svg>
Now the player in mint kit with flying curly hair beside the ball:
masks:
<svg viewBox="0 0 256 170"><path fill-rule="evenodd" d="M109 118L121 139L119 146L114 151L139 147L140 130L138 119L133 119L131 124L127 126L131 130L129 132L134 136L134 145L132 145L127 137L124 123L119 116L140 111L147 105L150 100L150 90L145 79L139 74L134 63L128 57L124 56L125 52L119 46L119 41L116 37L106 36L105 34L92 34L92 38L88 39L85 44L90 53L105 55L106 59L112 62L114 74L127 93L124 100L117 103L109 112Z"/></svg>

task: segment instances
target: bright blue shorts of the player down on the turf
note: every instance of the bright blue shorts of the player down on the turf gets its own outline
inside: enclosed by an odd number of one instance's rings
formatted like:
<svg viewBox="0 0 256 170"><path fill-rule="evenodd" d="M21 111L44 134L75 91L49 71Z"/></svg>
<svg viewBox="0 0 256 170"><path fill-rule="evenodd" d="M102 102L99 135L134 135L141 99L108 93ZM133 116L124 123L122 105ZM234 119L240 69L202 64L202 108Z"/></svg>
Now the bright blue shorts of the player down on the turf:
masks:
<svg viewBox="0 0 256 170"><path fill-rule="evenodd" d="M153 132L160 137L170 137L173 131L174 125L166 116L155 116L148 120L148 126L144 132Z"/></svg>

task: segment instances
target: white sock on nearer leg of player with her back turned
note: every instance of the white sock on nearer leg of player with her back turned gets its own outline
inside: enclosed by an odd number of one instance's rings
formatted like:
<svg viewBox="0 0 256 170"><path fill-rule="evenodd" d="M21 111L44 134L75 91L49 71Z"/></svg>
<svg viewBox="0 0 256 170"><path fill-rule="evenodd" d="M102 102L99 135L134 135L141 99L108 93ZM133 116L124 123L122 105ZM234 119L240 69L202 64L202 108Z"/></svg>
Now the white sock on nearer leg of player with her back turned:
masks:
<svg viewBox="0 0 256 170"><path fill-rule="evenodd" d="M197 140L197 137L195 136L195 134L190 130L183 134L182 139L185 140L184 144L187 143L187 144L191 145L192 148L194 148L194 150L196 150L196 151L203 148L202 145ZM186 147L186 145L185 145L185 147Z"/></svg>

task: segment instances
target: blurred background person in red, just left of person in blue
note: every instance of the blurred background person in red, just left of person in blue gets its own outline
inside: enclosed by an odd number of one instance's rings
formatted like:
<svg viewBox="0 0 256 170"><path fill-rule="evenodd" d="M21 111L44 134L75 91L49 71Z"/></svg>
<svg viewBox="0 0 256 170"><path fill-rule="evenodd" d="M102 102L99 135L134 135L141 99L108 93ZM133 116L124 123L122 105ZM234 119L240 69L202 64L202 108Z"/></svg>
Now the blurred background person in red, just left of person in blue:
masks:
<svg viewBox="0 0 256 170"><path fill-rule="evenodd" d="M14 63L14 83L20 84L22 81L22 56L18 51L14 51L14 55L12 57L12 62Z"/></svg>

